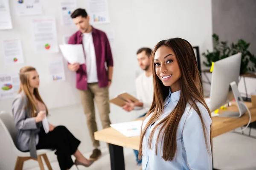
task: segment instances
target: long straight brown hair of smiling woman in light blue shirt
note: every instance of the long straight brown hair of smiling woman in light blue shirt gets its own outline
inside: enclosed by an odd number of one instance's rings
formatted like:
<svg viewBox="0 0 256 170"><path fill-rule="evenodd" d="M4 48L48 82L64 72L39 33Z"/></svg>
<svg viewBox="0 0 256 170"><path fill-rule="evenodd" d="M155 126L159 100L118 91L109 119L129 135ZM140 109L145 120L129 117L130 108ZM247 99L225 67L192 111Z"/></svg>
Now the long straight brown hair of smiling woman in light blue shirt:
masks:
<svg viewBox="0 0 256 170"><path fill-rule="evenodd" d="M206 102L204 101L203 96L203 90L200 83L200 74L197 68L197 62L195 58L195 53L193 50L192 45L181 38L172 38L168 40L162 40L157 43L157 45L154 47L154 51L152 52L152 60L154 61L154 55L158 48L161 46L169 47L173 50L175 53L180 72L181 77L178 81L180 81L180 99L174 108L174 110L166 116L163 120L161 120L151 131L150 136L148 138L148 147L151 149L151 142L154 135L154 132L156 128L159 126L160 131L163 130L164 135L160 136L160 133L157 136L156 141L156 154L157 154L157 145L159 142L159 139L161 138L161 142L163 140L163 159L165 161L172 161L175 158L176 150L177 150L177 142L176 142L176 135L177 135L177 128L180 122L180 119L185 111L187 103L191 105L191 108L193 108L199 115L201 119L201 123L204 130L204 139L205 144L207 147L207 151L210 154L210 151L212 149L212 132L210 131L210 149L209 144L207 142L207 134L205 130L204 121L202 118L202 115L199 111L198 106L196 105L196 102L200 102L202 105L204 105L205 108L207 108L207 111L209 113L209 116L211 116L209 108L207 107ZM143 138L145 136L147 128L155 123L163 113L163 105L164 100L169 95L169 88L163 85L162 81L157 77L155 73L155 65L154 62L152 62L152 72L153 72L153 82L154 82L154 96L153 96L153 102L151 105L151 108L149 109L148 113L146 114L145 118L149 116L152 113L151 118L146 123L144 130L141 133L140 138L140 150L139 155L142 156L142 144L143 144Z"/></svg>

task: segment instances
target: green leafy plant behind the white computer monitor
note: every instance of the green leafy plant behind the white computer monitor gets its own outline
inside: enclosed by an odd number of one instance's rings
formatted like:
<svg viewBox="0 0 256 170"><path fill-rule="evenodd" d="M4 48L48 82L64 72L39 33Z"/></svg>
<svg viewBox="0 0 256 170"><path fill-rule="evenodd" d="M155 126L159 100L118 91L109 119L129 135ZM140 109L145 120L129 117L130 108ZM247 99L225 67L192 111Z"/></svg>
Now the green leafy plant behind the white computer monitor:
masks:
<svg viewBox="0 0 256 170"><path fill-rule="evenodd" d="M207 67L210 67L212 65L212 62L216 62L220 59L224 59L226 57L229 57L231 55L241 53L241 68L240 68L240 74L247 73L247 71L255 71L256 65L254 64L252 68L248 67L249 62L254 62L256 60L256 57L248 51L248 47L250 46L250 43L245 42L244 40L240 39L238 42L232 43L231 45L227 44L227 41L219 41L219 37L217 34L212 35L213 38L213 51L209 52L207 50L207 53L203 53L202 55L206 57L207 62L203 62L203 64Z"/></svg>

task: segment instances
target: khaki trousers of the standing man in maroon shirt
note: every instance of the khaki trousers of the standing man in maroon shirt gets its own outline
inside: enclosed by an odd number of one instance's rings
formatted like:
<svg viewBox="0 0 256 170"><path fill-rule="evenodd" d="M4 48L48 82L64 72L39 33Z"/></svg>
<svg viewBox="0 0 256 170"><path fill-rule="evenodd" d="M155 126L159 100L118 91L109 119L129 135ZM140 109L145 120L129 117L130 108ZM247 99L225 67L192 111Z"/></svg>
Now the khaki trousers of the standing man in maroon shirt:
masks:
<svg viewBox="0 0 256 170"><path fill-rule="evenodd" d="M87 126L93 147L99 147L99 141L94 139L94 132L96 132L98 128L95 121L95 108L93 99L96 102L99 111L102 127L110 127L111 122L109 119L110 108L108 87L99 88L98 83L88 83L87 90L79 90L79 95L84 108L84 114L87 118Z"/></svg>

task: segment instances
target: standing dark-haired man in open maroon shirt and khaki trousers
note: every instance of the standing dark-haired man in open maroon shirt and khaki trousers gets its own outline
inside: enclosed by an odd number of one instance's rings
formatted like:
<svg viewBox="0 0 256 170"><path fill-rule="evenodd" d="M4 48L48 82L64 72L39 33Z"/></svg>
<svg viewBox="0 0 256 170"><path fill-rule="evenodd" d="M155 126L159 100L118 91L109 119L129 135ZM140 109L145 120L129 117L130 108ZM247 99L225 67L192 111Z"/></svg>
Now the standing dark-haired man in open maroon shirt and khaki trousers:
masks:
<svg viewBox="0 0 256 170"><path fill-rule="evenodd" d="M94 132L98 130L94 101L99 110L103 128L110 127L108 88L111 85L113 58L105 32L90 26L90 17L85 9L76 9L71 17L79 31L70 37L69 44L83 45L86 64L69 63L68 68L76 72L76 88L87 117L87 126L94 147L90 160L97 160L102 153L99 150L99 141L94 139Z"/></svg>

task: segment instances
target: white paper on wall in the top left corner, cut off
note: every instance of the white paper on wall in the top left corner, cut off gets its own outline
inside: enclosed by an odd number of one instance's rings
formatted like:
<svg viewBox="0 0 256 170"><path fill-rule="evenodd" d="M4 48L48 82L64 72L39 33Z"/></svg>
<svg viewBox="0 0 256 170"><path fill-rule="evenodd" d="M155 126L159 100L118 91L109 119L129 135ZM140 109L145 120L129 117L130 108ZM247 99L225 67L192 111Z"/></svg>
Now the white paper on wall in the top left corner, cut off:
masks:
<svg viewBox="0 0 256 170"><path fill-rule="evenodd" d="M0 0L0 29L12 29L9 0Z"/></svg>

